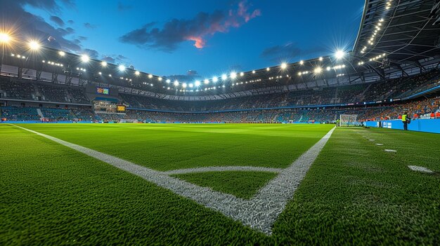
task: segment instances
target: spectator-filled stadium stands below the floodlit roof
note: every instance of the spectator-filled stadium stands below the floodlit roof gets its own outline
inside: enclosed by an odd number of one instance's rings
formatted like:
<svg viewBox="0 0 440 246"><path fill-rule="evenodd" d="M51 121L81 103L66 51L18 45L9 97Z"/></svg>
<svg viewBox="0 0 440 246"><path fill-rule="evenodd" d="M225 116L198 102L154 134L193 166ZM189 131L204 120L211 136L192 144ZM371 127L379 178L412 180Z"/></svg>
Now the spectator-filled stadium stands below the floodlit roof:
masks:
<svg viewBox="0 0 440 246"><path fill-rule="evenodd" d="M122 102L129 105L127 114L103 114L101 112L95 114L91 107L78 109L42 107L41 113L48 121L137 120L186 123L332 123L339 118L340 114L358 114L358 119L361 121L372 121L375 119L395 119L403 111L408 111L410 116L416 114L418 117L430 117L431 114L436 116L440 111L439 93L434 94L434 98L423 100L398 100L398 102L387 102L387 104L372 104L368 107L349 105L354 102L384 101L396 97L408 97L439 86L439 78L439 69L432 69L424 74L373 84L294 90L286 93L208 101L164 100L119 93ZM14 100L90 104L84 88L19 81L3 76L0 79L0 95L1 98ZM183 112L186 113L183 114ZM38 121L40 118L37 114L37 107L3 107L1 116L8 118L8 120L15 119L17 121Z"/></svg>

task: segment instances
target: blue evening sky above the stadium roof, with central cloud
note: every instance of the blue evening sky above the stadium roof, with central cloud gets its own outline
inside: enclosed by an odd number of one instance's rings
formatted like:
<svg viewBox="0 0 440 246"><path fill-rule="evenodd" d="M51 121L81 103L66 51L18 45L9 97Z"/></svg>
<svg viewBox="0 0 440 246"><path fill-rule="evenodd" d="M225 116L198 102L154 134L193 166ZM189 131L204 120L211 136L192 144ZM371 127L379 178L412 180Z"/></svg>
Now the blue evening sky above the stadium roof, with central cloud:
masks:
<svg viewBox="0 0 440 246"><path fill-rule="evenodd" d="M96 50L98 59L122 55L127 58L115 63L160 76L195 70L206 77L351 50L365 2L52 1L58 8L23 8L55 28L71 27L74 31L64 38L80 40L82 50L75 53ZM202 47L188 40L190 34L202 38Z"/></svg>

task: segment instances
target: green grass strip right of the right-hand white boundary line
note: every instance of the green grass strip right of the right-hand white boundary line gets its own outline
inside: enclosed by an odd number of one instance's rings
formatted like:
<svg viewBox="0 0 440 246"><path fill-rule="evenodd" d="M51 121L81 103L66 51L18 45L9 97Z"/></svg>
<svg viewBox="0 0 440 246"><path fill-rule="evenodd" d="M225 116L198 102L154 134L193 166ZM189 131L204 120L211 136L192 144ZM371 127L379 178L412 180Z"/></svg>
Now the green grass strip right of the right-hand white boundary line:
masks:
<svg viewBox="0 0 440 246"><path fill-rule="evenodd" d="M381 137L375 132L382 130L335 130L280 214L274 234L304 245L439 245L440 176L414 172L406 166L410 160L396 158L399 152L384 152L362 137L373 134L399 149L406 135L396 140L386 130ZM417 145L406 154L418 156L415 162L435 156Z"/></svg>

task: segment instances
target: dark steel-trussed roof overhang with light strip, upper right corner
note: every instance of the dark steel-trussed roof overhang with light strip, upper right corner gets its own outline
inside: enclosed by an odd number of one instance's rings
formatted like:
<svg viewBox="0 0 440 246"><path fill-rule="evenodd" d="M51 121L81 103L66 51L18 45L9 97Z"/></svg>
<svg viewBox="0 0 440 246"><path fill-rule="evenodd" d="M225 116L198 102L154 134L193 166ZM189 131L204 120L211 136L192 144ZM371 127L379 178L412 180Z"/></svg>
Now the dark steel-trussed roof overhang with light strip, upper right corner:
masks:
<svg viewBox="0 0 440 246"><path fill-rule="evenodd" d="M354 63L392 66L438 58L440 25L435 0L367 0L353 50ZM436 22L436 23L435 23ZM435 25L434 25L435 23Z"/></svg>

